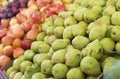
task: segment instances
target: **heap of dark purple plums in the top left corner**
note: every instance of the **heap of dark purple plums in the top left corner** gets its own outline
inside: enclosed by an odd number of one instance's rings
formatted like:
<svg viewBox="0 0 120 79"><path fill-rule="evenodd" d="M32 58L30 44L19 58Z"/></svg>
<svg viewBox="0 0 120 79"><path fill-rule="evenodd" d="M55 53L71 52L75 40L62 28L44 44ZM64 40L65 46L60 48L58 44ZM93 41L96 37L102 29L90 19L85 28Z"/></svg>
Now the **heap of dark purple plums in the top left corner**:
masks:
<svg viewBox="0 0 120 79"><path fill-rule="evenodd" d="M27 8L28 0L13 0L0 11L0 20L15 16L22 8Z"/></svg>

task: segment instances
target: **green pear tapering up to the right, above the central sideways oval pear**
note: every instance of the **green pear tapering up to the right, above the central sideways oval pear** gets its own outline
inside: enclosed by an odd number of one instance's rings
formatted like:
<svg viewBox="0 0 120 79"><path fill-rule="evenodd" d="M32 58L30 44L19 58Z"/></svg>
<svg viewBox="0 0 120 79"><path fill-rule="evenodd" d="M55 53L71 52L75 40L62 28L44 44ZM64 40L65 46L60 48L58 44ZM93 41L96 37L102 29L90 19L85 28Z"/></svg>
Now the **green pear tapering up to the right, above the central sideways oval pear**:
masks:
<svg viewBox="0 0 120 79"><path fill-rule="evenodd" d="M78 35L86 35L86 29L87 29L87 23L84 21L81 21L80 23L76 24L73 28L72 28L72 33L74 36L78 36Z"/></svg>

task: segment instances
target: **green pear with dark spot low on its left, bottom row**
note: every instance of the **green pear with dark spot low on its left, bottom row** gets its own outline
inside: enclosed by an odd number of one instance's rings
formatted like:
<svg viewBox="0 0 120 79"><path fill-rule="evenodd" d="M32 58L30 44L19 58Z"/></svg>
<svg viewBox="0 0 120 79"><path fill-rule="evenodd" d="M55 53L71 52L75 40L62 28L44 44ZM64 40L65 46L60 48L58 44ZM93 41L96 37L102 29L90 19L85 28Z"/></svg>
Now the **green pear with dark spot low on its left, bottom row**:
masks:
<svg viewBox="0 0 120 79"><path fill-rule="evenodd" d="M53 67L53 64L51 60L44 60L41 63L41 72L44 74L50 75L52 74L52 67Z"/></svg>

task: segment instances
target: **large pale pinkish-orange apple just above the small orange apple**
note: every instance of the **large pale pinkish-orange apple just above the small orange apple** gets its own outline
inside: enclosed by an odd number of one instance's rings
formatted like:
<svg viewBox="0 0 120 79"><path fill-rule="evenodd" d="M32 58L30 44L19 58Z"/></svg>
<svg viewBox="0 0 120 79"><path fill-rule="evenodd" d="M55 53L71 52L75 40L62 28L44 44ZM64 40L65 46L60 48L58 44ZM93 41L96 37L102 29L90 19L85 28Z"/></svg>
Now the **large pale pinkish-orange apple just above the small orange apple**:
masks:
<svg viewBox="0 0 120 79"><path fill-rule="evenodd" d="M16 28L12 29L12 33L15 38L23 38L23 36L24 36L24 31L21 27L16 27Z"/></svg>

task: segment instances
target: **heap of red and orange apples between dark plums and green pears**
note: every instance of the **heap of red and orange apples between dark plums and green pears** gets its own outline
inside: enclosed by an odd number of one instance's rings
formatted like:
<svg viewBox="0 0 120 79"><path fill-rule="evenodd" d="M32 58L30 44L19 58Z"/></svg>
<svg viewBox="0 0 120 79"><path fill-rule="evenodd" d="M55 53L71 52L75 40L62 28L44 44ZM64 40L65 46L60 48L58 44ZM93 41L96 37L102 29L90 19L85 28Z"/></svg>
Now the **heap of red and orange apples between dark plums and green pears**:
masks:
<svg viewBox="0 0 120 79"><path fill-rule="evenodd" d="M0 66L4 67L10 58L18 58L30 48L32 41L41 32L45 17L65 10L61 0L30 0L27 6L28 8L21 9L15 17L1 20Z"/></svg>

